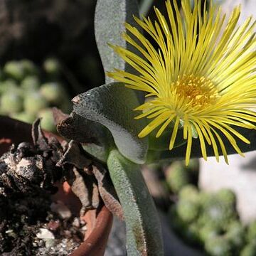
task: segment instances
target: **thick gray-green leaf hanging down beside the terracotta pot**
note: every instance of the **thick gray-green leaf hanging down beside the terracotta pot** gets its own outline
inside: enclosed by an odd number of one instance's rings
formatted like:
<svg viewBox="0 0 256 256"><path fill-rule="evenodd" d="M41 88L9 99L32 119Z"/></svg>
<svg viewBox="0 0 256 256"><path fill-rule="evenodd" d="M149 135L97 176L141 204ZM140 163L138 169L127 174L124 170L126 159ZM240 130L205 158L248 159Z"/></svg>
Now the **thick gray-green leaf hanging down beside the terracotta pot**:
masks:
<svg viewBox="0 0 256 256"><path fill-rule="evenodd" d="M164 255L159 217L139 166L117 150L107 166L124 210L128 255Z"/></svg>

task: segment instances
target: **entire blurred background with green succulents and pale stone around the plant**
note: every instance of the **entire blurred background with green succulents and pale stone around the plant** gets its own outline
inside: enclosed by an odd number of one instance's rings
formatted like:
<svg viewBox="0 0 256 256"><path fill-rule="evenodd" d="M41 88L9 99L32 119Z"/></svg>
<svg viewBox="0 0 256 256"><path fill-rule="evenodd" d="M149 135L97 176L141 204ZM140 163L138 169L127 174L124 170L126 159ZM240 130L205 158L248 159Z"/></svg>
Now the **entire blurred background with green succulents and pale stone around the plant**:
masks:
<svg viewBox="0 0 256 256"><path fill-rule="evenodd" d="M191 1L193 2L193 1ZM255 0L215 0L241 21L255 15ZM65 113L70 99L104 84L95 43L96 0L0 0L0 114L23 122L43 117L55 132L51 107ZM139 1L154 19L164 0ZM255 152L231 156L230 166L194 159L144 166L163 223L166 255L256 255ZM167 228L166 228L167 227ZM115 220L106 255L125 255L124 225Z"/></svg>

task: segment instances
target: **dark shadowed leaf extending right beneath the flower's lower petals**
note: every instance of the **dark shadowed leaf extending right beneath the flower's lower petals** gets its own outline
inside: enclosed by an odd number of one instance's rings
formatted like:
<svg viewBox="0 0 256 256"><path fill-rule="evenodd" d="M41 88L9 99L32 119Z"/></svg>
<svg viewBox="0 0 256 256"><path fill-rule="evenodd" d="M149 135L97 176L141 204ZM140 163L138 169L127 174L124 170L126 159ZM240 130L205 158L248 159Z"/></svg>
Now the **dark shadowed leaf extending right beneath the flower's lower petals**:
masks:
<svg viewBox="0 0 256 256"><path fill-rule="evenodd" d="M237 144L242 152L256 150L256 132L254 129L244 129L244 128L238 128L234 126L233 126L233 129L237 130L240 134L242 134L245 138L247 138L250 141L250 144L246 144L242 142L240 139L237 139ZM219 135L221 136L221 132L219 133ZM221 139L223 139L223 143L225 145L227 154L237 153L233 148L233 146L230 144L230 142L228 142L228 139L226 139L223 136L221 137ZM218 142L217 139L216 139L216 142ZM219 154L222 155L220 146L218 143L217 145L218 145ZM212 146L208 146L207 143L206 143L206 151L208 156L214 156ZM148 151L147 162L150 162L150 163L158 162L159 160L164 160L164 159L184 159L185 154L186 154L186 144L183 144L182 146L178 146L172 149L171 151L170 150L166 150L166 151L150 150ZM199 138L192 140L192 148L191 148L191 158L198 158L198 157L202 157Z"/></svg>

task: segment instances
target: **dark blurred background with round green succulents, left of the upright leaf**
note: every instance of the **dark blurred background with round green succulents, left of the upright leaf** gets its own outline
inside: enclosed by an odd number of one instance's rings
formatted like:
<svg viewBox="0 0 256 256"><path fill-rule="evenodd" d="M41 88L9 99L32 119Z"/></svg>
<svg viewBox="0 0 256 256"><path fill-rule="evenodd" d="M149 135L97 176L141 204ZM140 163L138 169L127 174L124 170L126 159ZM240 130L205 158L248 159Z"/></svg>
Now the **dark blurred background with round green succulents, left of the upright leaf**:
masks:
<svg viewBox="0 0 256 256"><path fill-rule="evenodd" d="M93 31L96 1L0 1L0 113L25 122L49 107L71 110L70 99L102 85ZM46 120L47 119L47 120Z"/></svg>

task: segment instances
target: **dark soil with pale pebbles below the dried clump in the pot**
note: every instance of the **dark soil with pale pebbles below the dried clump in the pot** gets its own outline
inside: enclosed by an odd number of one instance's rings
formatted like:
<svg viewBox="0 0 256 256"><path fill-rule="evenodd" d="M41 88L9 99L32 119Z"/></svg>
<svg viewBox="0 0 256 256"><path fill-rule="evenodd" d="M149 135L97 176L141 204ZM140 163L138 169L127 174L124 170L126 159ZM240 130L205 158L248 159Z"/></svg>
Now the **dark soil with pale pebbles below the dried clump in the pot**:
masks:
<svg viewBox="0 0 256 256"><path fill-rule="evenodd" d="M43 189L27 196L1 194L0 209L2 256L69 255L83 240L85 223Z"/></svg>

